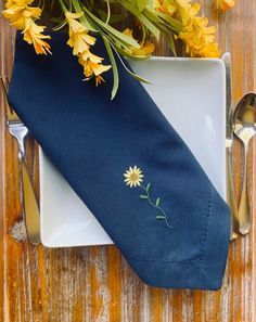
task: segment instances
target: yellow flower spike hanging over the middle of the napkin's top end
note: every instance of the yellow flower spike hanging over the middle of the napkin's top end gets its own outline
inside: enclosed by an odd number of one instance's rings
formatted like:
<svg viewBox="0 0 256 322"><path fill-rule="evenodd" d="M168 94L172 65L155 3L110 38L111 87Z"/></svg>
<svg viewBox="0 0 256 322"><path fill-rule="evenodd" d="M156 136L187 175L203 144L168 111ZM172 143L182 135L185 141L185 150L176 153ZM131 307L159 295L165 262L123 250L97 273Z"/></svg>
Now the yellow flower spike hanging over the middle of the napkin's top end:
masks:
<svg viewBox="0 0 256 322"><path fill-rule="evenodd" d="M103 59L90 52L90 47L95 43L97 39L90 36L89 30L78 21L82 15L82 13L65 12L69 27L67 44L73 48L73 54L78 56L86 80L94 76L98 86L104 81L100 75L108 70L111 65L103 65Z"/></svg>

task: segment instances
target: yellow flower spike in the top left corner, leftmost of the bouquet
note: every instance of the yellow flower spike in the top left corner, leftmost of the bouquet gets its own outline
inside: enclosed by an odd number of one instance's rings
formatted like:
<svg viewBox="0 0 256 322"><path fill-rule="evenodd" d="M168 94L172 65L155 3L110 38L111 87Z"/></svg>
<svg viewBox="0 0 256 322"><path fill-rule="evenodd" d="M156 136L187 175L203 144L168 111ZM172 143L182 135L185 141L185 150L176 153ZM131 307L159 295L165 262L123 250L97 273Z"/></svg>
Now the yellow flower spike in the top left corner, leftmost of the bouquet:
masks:
<svg viewBox="0 0 256 322"><path fill-rule="evenodd" d="M50 52L50 44L43 39L50 36L43 35L44 26L38 26L35 20L41 16L41 9L28 7L34 0L9 0L3 16L11 21L17 30L23 30L24 40L33 44L37 54Z"/></svg>

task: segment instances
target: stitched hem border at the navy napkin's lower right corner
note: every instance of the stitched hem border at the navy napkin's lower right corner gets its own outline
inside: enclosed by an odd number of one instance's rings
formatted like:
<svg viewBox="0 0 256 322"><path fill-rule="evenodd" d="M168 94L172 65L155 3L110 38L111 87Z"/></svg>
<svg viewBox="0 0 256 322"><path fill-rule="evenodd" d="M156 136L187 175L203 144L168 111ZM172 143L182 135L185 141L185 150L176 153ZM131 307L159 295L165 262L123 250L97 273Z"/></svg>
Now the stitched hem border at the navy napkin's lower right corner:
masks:
<svg viewBox="0 0 256 322"><path fill-rule="evenodd" d="M221 286L229 234L229 208L210 185L200 257L183 261L127 259L141 280L151 286L215 291Z"/></svg>

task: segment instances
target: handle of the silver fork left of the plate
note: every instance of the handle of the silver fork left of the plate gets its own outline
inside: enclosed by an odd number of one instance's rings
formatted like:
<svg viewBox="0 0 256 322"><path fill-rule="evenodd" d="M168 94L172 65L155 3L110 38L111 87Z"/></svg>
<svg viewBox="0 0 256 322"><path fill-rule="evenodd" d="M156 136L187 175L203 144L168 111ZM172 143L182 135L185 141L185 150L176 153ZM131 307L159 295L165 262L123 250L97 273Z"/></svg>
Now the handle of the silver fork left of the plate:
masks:
<svg viewBox="0 0 256 322"><path fill-rule="evenodd" d="M28 241L33 245L40 244L40 214L31 184L31 179L28 172L25 155L20 151L18 158L21 164L23 204L25 212L25 223Z"/></svg>

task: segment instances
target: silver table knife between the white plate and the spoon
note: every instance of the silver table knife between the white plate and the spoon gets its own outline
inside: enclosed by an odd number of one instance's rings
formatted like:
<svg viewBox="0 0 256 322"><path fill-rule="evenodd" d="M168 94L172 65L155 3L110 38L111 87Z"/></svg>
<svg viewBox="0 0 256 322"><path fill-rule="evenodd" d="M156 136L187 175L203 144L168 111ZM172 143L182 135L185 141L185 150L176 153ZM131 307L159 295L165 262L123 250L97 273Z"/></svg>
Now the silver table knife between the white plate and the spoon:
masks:
<svg viewBox="0 0 256 322"><path fill-rule="evenodd" d="M231 57L230 53L222 55L222 61L226 66L226 178L227 178L227 201L231 210L231 232L230 240L238 237L239 221L238 221L238 204L234 194L234 183L232 177L232 143L233 128L232 114L233 107L231 103Z"/></svg>

